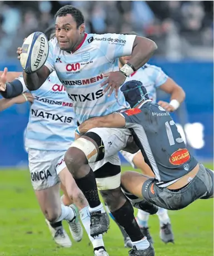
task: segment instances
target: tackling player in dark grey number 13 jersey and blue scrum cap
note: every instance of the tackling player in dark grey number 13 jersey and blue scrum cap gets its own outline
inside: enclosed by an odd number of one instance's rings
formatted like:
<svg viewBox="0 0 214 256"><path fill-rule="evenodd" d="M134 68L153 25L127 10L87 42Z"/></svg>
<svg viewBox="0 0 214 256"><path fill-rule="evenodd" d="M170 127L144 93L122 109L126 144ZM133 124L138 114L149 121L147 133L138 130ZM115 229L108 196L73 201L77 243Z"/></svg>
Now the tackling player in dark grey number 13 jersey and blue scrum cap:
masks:
<svg viewBox="0 0 214 256"><path fill-rule="evenodd" d="M126 196L135 203L140 198L168 210L185 208L196 199L213 197L213 171L198 163L186 149L168 111L153 104L139 81L121 88L132 109L81 124L77 133L93 127L128 127L155 178L135 171L122 175Z"/></svg>

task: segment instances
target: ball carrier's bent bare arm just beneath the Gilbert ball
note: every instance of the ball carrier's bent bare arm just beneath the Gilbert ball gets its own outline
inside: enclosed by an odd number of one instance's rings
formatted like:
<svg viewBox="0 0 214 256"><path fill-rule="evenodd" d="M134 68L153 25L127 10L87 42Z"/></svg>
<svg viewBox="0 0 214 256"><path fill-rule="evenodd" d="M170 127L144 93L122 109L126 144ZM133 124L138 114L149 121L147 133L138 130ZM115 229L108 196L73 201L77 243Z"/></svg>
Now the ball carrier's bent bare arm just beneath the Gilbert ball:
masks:
<svg viewBox="0 0 214 256"><path fill-rule="evenodd" d="M36 91L43 85L50 73L51 72L46 66L41 67L36 73L27 74L26 72L23 72L24 83L29 91Z"/></svg>

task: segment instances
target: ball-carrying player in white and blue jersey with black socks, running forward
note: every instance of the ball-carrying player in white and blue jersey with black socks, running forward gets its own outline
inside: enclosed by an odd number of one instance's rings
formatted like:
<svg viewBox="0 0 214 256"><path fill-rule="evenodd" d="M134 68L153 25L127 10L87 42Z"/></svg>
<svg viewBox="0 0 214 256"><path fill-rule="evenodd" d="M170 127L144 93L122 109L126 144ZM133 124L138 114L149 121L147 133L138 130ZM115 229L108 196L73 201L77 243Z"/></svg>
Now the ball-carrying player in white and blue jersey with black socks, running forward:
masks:
<svg viewBox="0 0 214 256"><path fill-rule="evenodd" d="M84 29L84 17L77 8L64 6L59 9L56 14L56 38L49 42L46 64L36 73L23 73L28 88L37 90L49 74L56 70L73 101L79 124L93 116L129 108L119 87L157 49L155 42L147 38L117 34L87 35ZM22 49L18 48L17 53L20 55ZM127 55L132 56L130 63L120 71L115 71L117 58ZM104 90L101 88L103 86ZM116 97L112 94L114 88ZM108 95L104 94L109 89ZM120 188L120 159L117 153L126 146L129 137L128 129L94 129L71 145L66 152L65 161L88 200L91 235L106 232L109 225L107 214L99 200L98 184L111 213L125 228L137 249L143 249L136 255L146 255L149 252L152 256L152 245L143 238L133 215L133 208ZM102 159L108 164L97 170L96 184L94 173L88 164Z"/></svg>

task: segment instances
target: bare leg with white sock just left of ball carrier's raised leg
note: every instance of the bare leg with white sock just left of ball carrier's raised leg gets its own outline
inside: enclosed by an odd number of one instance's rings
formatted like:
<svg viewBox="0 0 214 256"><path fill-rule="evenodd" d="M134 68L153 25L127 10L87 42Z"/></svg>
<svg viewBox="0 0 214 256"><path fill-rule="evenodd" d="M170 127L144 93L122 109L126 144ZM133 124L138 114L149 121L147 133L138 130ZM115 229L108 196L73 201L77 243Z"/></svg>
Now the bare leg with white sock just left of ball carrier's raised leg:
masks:
<svg viewBox="0 0 214 256"><path fill-rule="evenodd" d="M78 188L75 180L71 173L69 173L67 168L64 168L59 173L59 178L62 182L61 189L64 192L62 202L65 205L75 204L79 210L81 216L82 224L88 234L89 239L93 245L95 256L108 256L106 249L104 248L104 242L102 235L98 235L96 238L92 238L90 235L90 214L88 201L84 197L82 191ZM82 237L82 227L80 223L74 223L69 225L70 231L73 237Z"/></svg>

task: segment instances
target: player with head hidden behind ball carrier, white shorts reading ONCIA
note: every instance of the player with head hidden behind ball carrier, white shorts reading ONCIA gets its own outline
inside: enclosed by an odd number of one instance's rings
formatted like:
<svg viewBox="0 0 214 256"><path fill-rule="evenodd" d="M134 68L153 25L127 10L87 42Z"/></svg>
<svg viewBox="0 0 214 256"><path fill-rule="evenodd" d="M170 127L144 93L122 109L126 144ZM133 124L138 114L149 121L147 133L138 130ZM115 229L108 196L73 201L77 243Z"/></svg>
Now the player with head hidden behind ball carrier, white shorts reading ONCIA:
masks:
<svg viewBox="0 0 214 256"><path fill-rule="evenodd" d="M53 28L50 29L53 31ZM11 80L12 77L19 75L17 72L7 73L6 71L7 69L0 78L0 90L2 90L1 93L4 97L12 97L14 94L27 90L22 76L11 83L5 83L6 77ZM28 95L31 94L27 93ZM94 255L108 256L102 235L95 239L90 236L88 202L64 164L64 153L74 139L76 120L74 119L73 104L55 72L48 77L39 90L32 92L31 98L33 99L33 97L34 104L30 110L25 146L28 148L32 185L43 214L48 220L46 222L52 236L59 245L71 247L71 240L62 227L62 219L68 219L69 215L75 214L75 222L68 220L69 228L74 240L79 241L82 238L82 228L77 219L78 215L71 208L61 205L59 197L60 178L66 188L66 194L70 198L69 203L73 201L78 206L82 223L94 248ZM2 99L2 101L14 99L16 98Z"/></svg>

